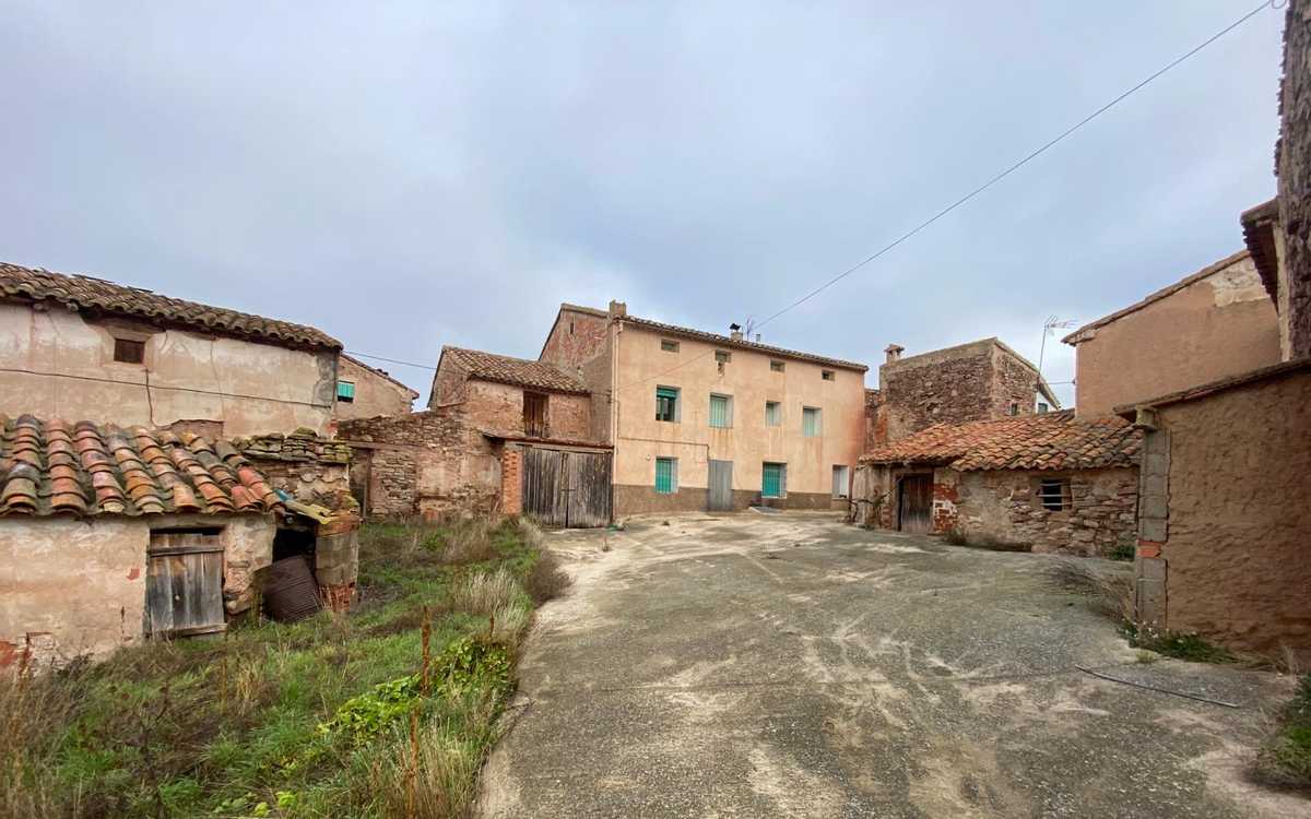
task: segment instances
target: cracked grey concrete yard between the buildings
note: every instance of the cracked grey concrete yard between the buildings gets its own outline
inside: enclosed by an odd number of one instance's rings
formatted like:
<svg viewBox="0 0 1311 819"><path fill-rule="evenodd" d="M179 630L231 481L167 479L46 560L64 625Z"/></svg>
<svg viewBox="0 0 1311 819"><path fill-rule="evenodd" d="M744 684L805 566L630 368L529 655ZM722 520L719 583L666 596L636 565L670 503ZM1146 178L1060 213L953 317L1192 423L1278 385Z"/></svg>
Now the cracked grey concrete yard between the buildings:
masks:
<svg viewBox="0 0 1311 819"><path fill-rule="evenodd" d="M1291 680L1137 663L1057 558L669 520L547 536L576 584L528 638L482 816L1311 815L1245 780Z"/></svg>

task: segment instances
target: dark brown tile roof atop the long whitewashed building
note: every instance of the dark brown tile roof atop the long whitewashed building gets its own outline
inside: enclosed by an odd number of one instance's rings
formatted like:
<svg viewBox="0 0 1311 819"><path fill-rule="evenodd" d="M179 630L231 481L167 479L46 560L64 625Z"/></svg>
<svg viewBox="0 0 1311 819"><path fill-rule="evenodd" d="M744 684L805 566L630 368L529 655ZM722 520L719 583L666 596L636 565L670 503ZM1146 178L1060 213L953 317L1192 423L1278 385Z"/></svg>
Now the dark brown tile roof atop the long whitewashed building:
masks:
<svg viewBox="0 0 1311 819"><path fill-rule="evenodd" d="M92 276L0 262L0 297L5 296L56 301L72 309L101 311L281 346L341 349L341 342L332 335L303 324L172 299Z"/></svg>

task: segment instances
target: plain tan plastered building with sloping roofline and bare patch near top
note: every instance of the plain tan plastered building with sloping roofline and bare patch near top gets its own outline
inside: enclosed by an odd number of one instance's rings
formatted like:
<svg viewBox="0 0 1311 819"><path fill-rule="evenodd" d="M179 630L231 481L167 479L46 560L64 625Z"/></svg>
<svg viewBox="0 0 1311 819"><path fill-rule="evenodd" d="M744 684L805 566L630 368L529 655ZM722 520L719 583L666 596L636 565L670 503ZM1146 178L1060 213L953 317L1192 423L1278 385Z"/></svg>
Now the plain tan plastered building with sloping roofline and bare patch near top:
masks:
<svg viewBox="0 0 1311 819"><path fill-rule="evenodd" d="M1280 362L1278 318L1242 250L1087 324L1075 347L1075 409L1116 406Z"/></svg>

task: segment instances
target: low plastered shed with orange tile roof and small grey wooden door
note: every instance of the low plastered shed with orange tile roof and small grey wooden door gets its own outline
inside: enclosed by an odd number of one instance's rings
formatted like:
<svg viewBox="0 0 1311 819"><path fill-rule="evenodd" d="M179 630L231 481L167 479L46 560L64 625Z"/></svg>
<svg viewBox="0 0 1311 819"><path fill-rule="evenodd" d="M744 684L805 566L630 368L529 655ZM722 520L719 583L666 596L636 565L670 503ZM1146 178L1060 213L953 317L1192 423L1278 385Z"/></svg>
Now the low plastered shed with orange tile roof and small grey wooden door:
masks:
<svg viewBox="0 0 1311 819"><path fill-rule="evenodd" d="M222 632L284 511L225 442L0 415L0 666Z"/></svg>

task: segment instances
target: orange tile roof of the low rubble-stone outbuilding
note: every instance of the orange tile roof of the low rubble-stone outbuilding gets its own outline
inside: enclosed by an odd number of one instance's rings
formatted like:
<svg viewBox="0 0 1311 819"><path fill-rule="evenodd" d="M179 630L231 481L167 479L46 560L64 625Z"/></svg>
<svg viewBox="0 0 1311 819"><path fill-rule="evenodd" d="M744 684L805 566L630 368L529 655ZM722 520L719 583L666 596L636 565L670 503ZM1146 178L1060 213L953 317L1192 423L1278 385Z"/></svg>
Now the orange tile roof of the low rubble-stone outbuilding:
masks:
<svg viewBox="0 0 1311 819"><path fill-rule="evenodd" d="M1142 434L1124 418L1074 410L937 423L867 452L864 464L928 463L975 469L1096 469L1138 463Z"/></svg>

